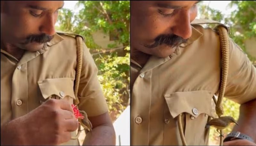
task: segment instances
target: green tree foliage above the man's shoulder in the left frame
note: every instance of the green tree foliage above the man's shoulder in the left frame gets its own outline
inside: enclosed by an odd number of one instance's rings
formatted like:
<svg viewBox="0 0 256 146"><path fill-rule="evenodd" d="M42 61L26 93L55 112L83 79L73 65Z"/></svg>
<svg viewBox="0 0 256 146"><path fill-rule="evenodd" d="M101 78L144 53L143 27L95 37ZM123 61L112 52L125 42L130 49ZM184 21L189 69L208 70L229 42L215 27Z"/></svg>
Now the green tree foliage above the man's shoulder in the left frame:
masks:
<svg viewBox="0 0 256 146"><path fill-rule="evenodd" d="M68 9L59 12L58 29L85 36L87 47L98 51L101 48L92 38L98 30L117 37L109 48L115 48L117 44L129 45L130 1L78 1L76 7L82 7L78 14Z"/></svg>

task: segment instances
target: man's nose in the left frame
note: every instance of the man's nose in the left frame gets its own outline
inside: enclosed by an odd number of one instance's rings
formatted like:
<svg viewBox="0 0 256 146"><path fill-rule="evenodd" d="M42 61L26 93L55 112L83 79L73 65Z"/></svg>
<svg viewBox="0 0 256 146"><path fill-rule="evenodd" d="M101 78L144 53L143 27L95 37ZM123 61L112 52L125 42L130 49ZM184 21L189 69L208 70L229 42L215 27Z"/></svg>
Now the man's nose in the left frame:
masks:
<svg viewBox="0 0 256 146"><path fill-rule="evenodd" d="M53 15L51 16L48 16L42 26L39 28L40 29L40 32L41 33L44 33L46 35L54 35L55 34L55 22L56 22L56 19L54 18Z"/></svg>

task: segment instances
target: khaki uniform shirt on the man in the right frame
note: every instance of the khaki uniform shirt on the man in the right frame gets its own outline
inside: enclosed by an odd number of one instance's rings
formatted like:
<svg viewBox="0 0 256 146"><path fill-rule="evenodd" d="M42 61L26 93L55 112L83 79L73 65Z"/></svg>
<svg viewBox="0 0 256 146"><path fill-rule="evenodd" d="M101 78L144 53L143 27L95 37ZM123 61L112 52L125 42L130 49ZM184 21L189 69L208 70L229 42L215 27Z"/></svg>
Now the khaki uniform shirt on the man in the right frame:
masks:
<svg viewBox="0 0 256 146"><path fill-rule="evenodd" d="M182 145L180 113L187 144L208 144L205 126L215 117L212 97L220 85L220 38L211 28L192 26L192 37L172 55L151 56L144 67L131 60L132 145ZM231 39L229 56L225 97L239 104L255 99L256 69Z"/></svg>

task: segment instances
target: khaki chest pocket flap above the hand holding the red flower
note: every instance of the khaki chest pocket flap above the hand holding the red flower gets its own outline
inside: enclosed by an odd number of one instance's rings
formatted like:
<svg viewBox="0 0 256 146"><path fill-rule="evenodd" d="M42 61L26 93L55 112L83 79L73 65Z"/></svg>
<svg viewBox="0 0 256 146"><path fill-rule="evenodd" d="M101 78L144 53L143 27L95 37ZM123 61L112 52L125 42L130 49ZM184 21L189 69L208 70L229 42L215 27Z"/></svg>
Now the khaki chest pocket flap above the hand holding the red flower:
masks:
<svg viewBox="0 0 256 146"><path fill-rule="evenodd" d="M73 104L74 99L76 99L72 78L45 79L37 83L41 91L40 96L43 97L44 101L47 98L64 99Z"/></svg>

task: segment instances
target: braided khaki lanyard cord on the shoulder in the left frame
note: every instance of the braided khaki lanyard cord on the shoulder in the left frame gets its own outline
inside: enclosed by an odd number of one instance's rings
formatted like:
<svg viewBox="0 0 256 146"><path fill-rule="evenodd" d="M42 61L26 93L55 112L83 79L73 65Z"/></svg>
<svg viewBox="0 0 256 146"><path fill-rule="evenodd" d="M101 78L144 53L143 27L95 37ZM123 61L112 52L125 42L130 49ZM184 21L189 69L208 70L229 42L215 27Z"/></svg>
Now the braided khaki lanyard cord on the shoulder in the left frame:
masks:
<svg viewBox="0 0 256 146"><path fill-rule="evenodd" d="M78 87L81 77L81 71L82 71L82 64L83 64L83 38L80 36L76 36L76 53L77 53L77 59L76 59L76 80L75 80L75 87L74 87L74 93L76 99L74 100L74 104L77 106L79 104L79 98L78 98ZM78 106L77 106L78 109ZM79 137L81 133L81 119L78 119L79 125L78 125L78 132L75 137L71 137L72 140L75 140Z"/></svg>

